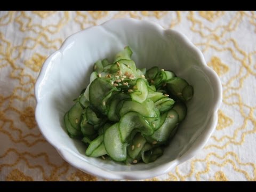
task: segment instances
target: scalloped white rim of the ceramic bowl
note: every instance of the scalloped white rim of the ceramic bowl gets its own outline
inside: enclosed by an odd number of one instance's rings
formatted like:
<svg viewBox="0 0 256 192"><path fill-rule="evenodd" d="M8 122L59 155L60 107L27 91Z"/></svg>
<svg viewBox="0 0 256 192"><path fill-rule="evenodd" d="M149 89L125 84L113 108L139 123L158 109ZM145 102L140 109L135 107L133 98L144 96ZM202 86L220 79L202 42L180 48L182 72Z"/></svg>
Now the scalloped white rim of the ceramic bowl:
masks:
<svg viewBox="0 0 256 192"><path fill-rule="evenodd" d="M41 104L40 102L40 86L41 83L43 82L44 76L47 72L47 68L49 67L49 64L52 60L52 58L55 57L55 55L57 55L60 52L63 52L66 47L70 44L70 42L72 42L73 38L77 35L77 34L82 34L84 33L84 31L86 31L89 28L93 28L93 27L105 27L106 25L108 25L108 23L111 22L115 22L117 20L122 20L122 22L144 22L147 23L147 25L151 25L154 26L155 28L157 28L158 31L161 31L162 33L164 33L165 31L169 31L169 33L174 33L175 35L179 36L180 41L183 41L183 43L186 44L186 46L188 47L188 49L190 49L191 52L193 52L193 54L196 55L198 61L202 64L201 65L201 69L204 71L205 74L207 74L207 76L211 79L211 83L215 89L215 105L213 106L212 109L212 113L213 115L209 118L209 122L207 123L208 129L205 129L202 133L201 133L201 139L195 139L194 143L192 143L193 145L191 145L188 150L186 151L185 154L181 155L180 157L174 159L171 162L153 167L153 169L150 170L143 170L143 171L110 171L110 170L103 170L100 169L99 167L95 167L87 162L84 162L81 158L79 158L78 156L76 156L75 154L72 153L72 151L70 151L68 148L64 148L61 145L59 145L59 143L55 143L54 140L50 140L49 138L47 138L47 135L44 134L44 126L41 122L41 119L39 117L38 114L38 109L39 106ZM195 154L202 149L206 142L209 140L212 132L214 131L215 127L217 126L217 122L218 122L218 109L221 105L222 102L222 87L221 87L221 82L220 79L218 77L218 75L215 73L215 71L213 69L211 69L210 67L208 67L206 65L204 56L202 54L202 52L193 44L190 42L190 40L183 34L179 33L178 31L172 30L172 29L164 29L161 25L158 25L157 23L151 22L151 21L145 21L145 20L137 20L137 19L111 19L109 21L106 21L104 23L102 23L99 26L92 26L86 28L84 30L78 31L77 33L70 35L69 37L66 38L66 40L62 43L61 47L59 50L55 51L54 53L52 53L43 63L42 69L37 77L37 81L35 84L35 97L36 97L36 101L37 101L37 105L36 105L36 110L35 110L35 118L36 118L36 122L37 125L39 127L39 130L41 131L41 133L43 134L44 138L51 143L51 145L57 149L58 153L60 154L60 156L65 159L69 164L73 165L74 167L76 167L79 170L82 170L84 172L96 175L97 177L101 177L101 178L106 178L106 179L132 179L132 180L138 180L138 179L147 179L147 178L153 178L156 177L158 175L161 174L165 174L167 172L169 172L174 166L181 164L185 161L187 161L188 159L190 159L191 157L195 156ZM198 135L199 137L199 135ZM76 161L74 161L74 157L76 156ZM74 163L75 162L75 163ZM85 166L86 165L86 166Z"/></svg>

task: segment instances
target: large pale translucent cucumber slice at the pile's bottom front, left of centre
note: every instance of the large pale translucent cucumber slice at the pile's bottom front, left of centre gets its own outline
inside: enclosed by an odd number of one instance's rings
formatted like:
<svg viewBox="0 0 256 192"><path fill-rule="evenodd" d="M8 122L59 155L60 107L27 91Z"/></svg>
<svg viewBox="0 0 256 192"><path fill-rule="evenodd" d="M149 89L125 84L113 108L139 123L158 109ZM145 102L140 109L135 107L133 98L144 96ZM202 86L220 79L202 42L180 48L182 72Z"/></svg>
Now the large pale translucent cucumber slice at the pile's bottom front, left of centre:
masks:
<svg viewBox="0 0 256 192"><path fill-rule="evenodd" d="M108 155L117 162L126 159L126 143L122 143L118 123L110 126L104 134L104 145Z"/></svg>

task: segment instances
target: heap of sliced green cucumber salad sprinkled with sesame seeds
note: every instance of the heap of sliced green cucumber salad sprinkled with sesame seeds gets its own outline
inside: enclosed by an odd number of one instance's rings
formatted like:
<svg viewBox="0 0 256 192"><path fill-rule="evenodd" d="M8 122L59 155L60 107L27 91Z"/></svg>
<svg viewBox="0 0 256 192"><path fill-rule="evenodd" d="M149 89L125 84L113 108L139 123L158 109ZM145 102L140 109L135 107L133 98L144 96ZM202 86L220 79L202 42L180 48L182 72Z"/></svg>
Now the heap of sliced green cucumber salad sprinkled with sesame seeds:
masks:
<svg viewBox="0 0 256 192"><path fill-rule="evenodd" d="M139 69L126 46L94 64L90 83L64 116L85 155L125 164L154 162L185 119L193 87L173 71Z"/></svg>

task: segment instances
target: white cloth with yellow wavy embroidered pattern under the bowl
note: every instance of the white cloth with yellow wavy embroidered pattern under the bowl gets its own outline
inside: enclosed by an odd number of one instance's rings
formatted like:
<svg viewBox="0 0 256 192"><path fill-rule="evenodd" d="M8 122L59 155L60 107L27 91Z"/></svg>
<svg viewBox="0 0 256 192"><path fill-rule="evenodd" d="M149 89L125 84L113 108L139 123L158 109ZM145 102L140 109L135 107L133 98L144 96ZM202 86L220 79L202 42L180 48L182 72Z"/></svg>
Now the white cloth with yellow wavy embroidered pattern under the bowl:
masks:
<svg viewBox="0 0 256 192"><path fill-rule="evenodd" d="M146 181L256 181L255 11L0 11L0 180L101 181L63 161L34 118L44 60L69 35L111 18L180 31L220 76L223 102L206 146L169 174Z"/></svg>

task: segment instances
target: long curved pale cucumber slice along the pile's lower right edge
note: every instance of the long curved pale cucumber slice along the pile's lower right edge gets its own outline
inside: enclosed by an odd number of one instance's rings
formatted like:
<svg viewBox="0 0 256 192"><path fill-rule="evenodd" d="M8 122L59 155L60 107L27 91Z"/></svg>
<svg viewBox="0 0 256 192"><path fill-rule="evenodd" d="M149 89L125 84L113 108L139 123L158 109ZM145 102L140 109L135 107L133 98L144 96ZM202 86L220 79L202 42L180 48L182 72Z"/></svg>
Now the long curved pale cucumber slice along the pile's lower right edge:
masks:
<svg viewBox="0 0 256 192"><path fill-rule="evenodd" d="M177 123L179 122L179 116L175 110L170 110L167 113L167 117L165 118L164 123L161 127L159 127L158 130L154 132L153 135L150 135L149 137L146 137L148 142L159 142L164 143L169 138L169 135L171 134L172 130L175 128Z"/></svg>

